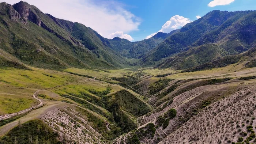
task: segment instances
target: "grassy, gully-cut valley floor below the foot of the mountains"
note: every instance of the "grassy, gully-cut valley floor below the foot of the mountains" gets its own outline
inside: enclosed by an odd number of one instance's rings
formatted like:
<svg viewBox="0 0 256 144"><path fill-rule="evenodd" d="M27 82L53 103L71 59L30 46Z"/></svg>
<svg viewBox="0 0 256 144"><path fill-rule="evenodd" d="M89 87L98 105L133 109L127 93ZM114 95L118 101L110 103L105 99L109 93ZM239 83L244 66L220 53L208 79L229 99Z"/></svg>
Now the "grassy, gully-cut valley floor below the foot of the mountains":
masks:
<svg viewBox="0 0 256 144"><path fill-rule="evenodd" d="M0 71L2 141L11 129L31 120L45 122L59 134L57 140L67 143L218 144L237 143L238 138L255 141L256 68L238 64L185 73L151 68ZM129 96L141 101L138 106L144 105L138 114L138 110L129 109L136 105L134 102L123 103L133 101L125 100ZM119 116L113 117L110 109L116 102L125 121L135 122L136 129L124 133L125 123L118 123L115 117ZM24 113L10 115L24 109ZM175 110L174 117L169 115L171 110Z"/></svg>

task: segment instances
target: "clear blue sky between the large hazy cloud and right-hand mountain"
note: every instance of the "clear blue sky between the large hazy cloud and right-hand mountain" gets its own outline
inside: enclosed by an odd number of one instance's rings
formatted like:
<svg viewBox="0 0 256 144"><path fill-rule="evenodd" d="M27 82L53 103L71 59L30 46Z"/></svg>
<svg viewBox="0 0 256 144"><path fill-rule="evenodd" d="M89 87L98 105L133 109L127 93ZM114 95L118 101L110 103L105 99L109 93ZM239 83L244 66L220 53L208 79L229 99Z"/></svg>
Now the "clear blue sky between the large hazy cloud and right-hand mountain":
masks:
<svg viewBox="0 0 256 144"><path fill-rule="evenodd" d="M120 0L127 4L127 9L142 19L139 31L128 33L139 41L159 31L172 16L179 15L196 20L212 10L238 11L256 10L256 0L235 0L228 5L208 7L212 0ZM193 2L192 2L193 1Z"/></svg>

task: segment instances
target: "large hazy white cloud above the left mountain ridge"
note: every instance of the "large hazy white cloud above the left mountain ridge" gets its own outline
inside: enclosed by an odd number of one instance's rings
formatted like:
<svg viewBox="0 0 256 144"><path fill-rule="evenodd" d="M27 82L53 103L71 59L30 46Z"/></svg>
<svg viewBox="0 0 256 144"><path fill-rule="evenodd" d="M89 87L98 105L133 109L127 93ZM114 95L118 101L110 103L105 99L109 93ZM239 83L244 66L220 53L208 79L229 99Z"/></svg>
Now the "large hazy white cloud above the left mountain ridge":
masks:
<svg viewBox="0 0 256 144"><path fill-rule="evenodd" d="M6 0L0 0L0 2ZM7 0L15 4L20 0ZM91 27L103 37L116 31L129 33L139 30L140 18L125 10L125 5L113 0L25 0L42 12L56 18L79 22Z"/></svg>

